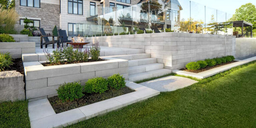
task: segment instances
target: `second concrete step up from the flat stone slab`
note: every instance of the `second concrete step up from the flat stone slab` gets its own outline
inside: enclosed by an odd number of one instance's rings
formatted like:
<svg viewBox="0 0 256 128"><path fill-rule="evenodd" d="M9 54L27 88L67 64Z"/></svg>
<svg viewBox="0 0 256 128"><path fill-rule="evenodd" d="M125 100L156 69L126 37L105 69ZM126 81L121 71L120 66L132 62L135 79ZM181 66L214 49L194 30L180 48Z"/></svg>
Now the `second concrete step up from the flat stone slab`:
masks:
<svg viewBox="0 0 256 128"><path fill-rule="evenodd" d="M162 68L164 68L164 64L160 64L160 63L132 66L132 67L129 67L129 75L141 73L141 72L148 72L148 71L162 69Z"/></svg>

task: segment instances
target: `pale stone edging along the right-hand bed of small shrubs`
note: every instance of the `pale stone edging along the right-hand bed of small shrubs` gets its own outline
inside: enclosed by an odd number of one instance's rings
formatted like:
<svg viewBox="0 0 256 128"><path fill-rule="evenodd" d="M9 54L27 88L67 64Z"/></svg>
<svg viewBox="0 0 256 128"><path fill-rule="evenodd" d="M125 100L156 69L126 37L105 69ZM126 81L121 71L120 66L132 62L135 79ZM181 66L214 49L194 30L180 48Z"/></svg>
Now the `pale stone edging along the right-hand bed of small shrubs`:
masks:
<svg viewBox="0 0 256 128"><path fill-rule="evenodd" d="M174 70L173 73L176 73L176 74L179 74L179 75L184 75L184 76L191 76L191 77L195 77L195 78L199 78L199 79L204 79L204 78L213 76L215 74L218 74L220 72L224 72L226 70L229 70L231 68L249 63L249 62L254 61L254 60L256 60L256 56L245 59L245 60L240 60L240 61L235 62L235 63L223 65L221 67L217 67L217 68L210 69L210 70L200 72L200 73L186 72L186 71L181 71L181 70Z"/></svg>

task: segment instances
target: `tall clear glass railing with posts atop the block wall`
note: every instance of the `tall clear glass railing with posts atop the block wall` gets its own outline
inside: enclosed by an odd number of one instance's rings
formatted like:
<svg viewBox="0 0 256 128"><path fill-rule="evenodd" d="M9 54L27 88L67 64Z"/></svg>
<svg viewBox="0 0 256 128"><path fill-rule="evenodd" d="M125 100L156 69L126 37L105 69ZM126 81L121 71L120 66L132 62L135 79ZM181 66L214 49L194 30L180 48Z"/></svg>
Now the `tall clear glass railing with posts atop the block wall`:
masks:
<svg viewBox="0 0 256 128"><path fill-rule="evenodd" d="M103 7L90 12L76 30L82 36L133 33L139 29L233 35L232 15L189 0L145 0L123 9ZM153 27L153 28L152 28Z"/></svg>

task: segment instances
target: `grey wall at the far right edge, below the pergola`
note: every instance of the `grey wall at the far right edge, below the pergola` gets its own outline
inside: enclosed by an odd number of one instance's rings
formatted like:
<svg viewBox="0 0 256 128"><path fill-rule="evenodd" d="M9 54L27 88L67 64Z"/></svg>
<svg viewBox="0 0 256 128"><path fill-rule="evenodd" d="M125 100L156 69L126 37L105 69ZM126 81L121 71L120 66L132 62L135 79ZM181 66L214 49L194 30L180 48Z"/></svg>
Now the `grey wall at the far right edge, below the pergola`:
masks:
<svg viewBox="0 0 256 128"><path fill-rule="evenodd" d="M256 38L236 38L236 59L256 56Z"/></svg>

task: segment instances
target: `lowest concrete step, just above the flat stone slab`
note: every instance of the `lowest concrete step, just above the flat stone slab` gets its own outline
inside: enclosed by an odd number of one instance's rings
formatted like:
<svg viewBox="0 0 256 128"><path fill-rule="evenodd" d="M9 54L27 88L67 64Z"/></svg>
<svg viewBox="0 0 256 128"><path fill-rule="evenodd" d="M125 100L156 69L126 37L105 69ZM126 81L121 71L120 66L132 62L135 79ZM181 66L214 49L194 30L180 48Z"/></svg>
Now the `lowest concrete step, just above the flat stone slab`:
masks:
<svg viewBox="0 0 256 128"><path fill-rule="evenodd" d="M152 77L159 77L159 76L163 76L170 73L172 73L172 70L164 69L164 68L148 71L148 72L136 73L136 74L129 75L129 81L134 82L134 81L144 80Z"/></svg>

